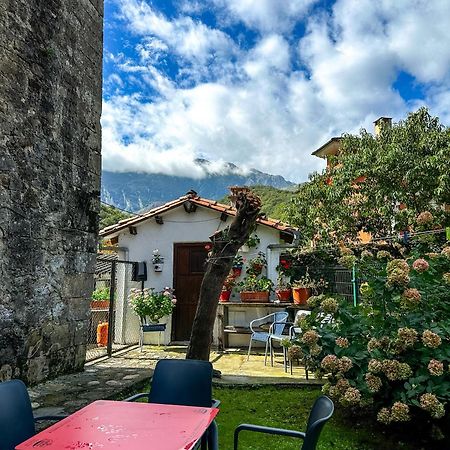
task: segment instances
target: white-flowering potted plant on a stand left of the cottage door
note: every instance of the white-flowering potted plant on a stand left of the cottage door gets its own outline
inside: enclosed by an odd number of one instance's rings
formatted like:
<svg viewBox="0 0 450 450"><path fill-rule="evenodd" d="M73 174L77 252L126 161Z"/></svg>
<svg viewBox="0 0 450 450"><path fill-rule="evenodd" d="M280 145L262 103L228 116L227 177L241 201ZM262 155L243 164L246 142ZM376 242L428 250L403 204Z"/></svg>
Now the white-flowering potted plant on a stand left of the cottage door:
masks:
<svg viewBox="0 0 450 450"><path fill-rule="evenodd" d="M172 313L177 302L173 289L169 287L159 292L154 288L131 289L128 300L133 311L139 316L144 331L164 331L166 324L158 322Z"/></svg>

